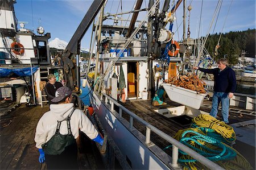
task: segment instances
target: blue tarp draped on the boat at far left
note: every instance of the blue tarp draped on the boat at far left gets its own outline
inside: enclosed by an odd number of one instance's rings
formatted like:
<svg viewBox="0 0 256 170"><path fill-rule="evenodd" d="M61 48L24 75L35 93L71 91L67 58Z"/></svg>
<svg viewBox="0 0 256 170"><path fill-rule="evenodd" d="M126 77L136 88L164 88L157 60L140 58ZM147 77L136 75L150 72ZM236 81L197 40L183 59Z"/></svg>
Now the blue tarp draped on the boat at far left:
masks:
<svg viewBox="0 0 256 170"><path fill-rule="evenodd" d="M35 73L38 70L38 67L32 67L32 72ZM18 68L18 69L7 69L0 68L0 77L9 76L11 73L14 73L18 76L31 76L31 68Z"/></svg>

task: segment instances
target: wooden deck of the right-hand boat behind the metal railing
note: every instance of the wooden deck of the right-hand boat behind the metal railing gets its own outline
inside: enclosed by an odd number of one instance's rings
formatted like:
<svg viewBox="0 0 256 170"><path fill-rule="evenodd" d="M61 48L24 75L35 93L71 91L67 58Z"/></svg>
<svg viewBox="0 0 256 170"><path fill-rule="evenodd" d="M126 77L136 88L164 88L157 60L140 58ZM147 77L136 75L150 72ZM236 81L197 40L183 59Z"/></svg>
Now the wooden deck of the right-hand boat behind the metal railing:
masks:
<svg viewBox="0 0 256 170"><path fill-rule="evenodd" d="M156 109L163 109L167 107L176 107L176 106L181 106L178 103L170 101L170 99L165 99L164 102L167 103L167 105L162 105L162 106L152 106L151 100L142 100L142 99L135 99L135 100L127 100L126 103L122 103L123 106L125 106L127 109L150 123L152 126L155 126L159 128L159 130L165 132L166 134L170 136L174 136L176 132L180 129L183 128L188 128L190 126L190 123L184 126L180 126L181 124L179 122L175 122L174 119L172 118L166 118L163 115L160 115L156 113ZM204 107L200 107L200 110L206 111L207 113L210 112L211 109L211 101L205 100L203 105ZM253 110L241 110L238 107L230 106L231 110L240 110L240 111L230 111L229 113L229 122L230 126L237 125L239 122L244 122L244 121L249 121L252 120L254 123L250 123L251 127L253 128L255 132L255 111ZM243 114L245 113L245 114ZM251 115L249 115L251 113ZM218 110L218 118L221 120L221 110L219 107ZM129 115L123 114L123 118L125 118L127 121L129 121ZM185 121L183 119L182 121ZM144 126L141 125L141 123L138 123L134 121L134 127L137 128L142 134L146 134L146 129ZM234 128L236 131L236 128ZM238 140L238 136L242 136L243 134L237 134L237 140L236 144L233 145L233 147L240 152L246 159L253 165L255 168L255 144L254 147L243 143L242 140ZM254 134L255 138L255 134ZM151 141L154 142L157 146L160 148L165 148L170 145L170 143L166 142L166 140L163 140L159 138L158 135L154 134L152 132L151 134ZM253 139L253 142L255 143L255 139ZM171 154L168 150L166 150L167 154Z"/></svg>

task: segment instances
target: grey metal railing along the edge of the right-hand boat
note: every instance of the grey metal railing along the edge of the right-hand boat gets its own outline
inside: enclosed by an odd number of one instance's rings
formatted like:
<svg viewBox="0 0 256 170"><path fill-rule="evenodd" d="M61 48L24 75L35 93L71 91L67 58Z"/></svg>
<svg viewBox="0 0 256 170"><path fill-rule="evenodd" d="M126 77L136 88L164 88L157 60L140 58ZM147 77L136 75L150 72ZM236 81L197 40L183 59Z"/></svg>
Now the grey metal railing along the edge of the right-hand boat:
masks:
<svg viewBox="0 0 256 170"><path fill-rule="evenodd" d="M138 117L133 112L126 109L126 107L124 107L120 103L118 103L115 99L108 96L108 94L101 93L101 100L103 100L103 96L105 96L105 103L106 104L108 104L108 102L110 103L111 111L114 111L114 106L119 107L118 119L123 119L123 117L122 117L123 111L125 111L125 113L129 114L129 116L130 116L130 118L129 118L130 131L132 131L134 128L133 127L134 119L136 119L139 123L143 124L146 127L146 139L145 139L144 143L147 145L147 147L151 146L151 140L150 140L151 131L155 132L155 134L157 134L158 136L160 136L161 138L163 138L164 140L167 140L167 142L170 142L172 144L172 163L171 163L172 167L174 167L174 168L179 167L177 160L178 160L179 150L181 150L181 151L187 153L189 156L196 159L197 161L199 161L200 163L204 164L206 167L208 167L210 169L224 169L220 165L214 163L213 161L210 161L206 157L200 155L196 151L194 151L191 148L180 143L176 139L172 138L171 136L167 135L163 131L156 128L155 126L152 126L150 123L144 121L142 118Z"/></svg>

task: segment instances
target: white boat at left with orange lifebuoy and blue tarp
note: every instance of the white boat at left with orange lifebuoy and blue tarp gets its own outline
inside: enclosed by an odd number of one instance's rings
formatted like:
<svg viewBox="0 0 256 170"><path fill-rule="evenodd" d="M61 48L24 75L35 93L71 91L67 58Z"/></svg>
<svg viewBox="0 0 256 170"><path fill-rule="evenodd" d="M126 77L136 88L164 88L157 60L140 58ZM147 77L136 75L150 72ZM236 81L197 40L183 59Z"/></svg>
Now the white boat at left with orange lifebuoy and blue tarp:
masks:
<svg viewBox="0 0 256 170"><path fill-rule="evenodd" d="M40 25L36 33L27 29L27 22L16 19L15 3L16 1L1 2L1 101L6 101L2 104L18 105L21 102L43 106L43 103L47 102L43 90L47 75L53 73L57 81L63 81L63 65L56 60L57 56L51 59L48 45L51 34L45 33ZM20 29L17 27L18 24ZM13 104L9 105L12 106ZM9 107L3 109L2 114L10 111Z"/></svg>

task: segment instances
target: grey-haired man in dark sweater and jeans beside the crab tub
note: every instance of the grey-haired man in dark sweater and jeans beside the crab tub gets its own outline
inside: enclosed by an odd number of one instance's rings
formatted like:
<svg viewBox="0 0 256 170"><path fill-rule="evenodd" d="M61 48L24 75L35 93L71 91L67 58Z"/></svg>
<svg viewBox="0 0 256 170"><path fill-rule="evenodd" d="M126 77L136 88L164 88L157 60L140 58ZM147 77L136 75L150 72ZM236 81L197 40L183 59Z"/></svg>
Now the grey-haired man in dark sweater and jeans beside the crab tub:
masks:
<svg viewBox="0 0 256 170"><path fill-rule="evenodd" d="M228 67L228 61L226 59L220 59L217 61L217 63L218 68L204 69L194 67L194 69L214 75L214 94L212 98L212 110L210 110L210 115L216 118L218 114L218 104L221 102L222 119L228 124L229 99L233 97L237 86L236 73L232 68Z"/></svg>

